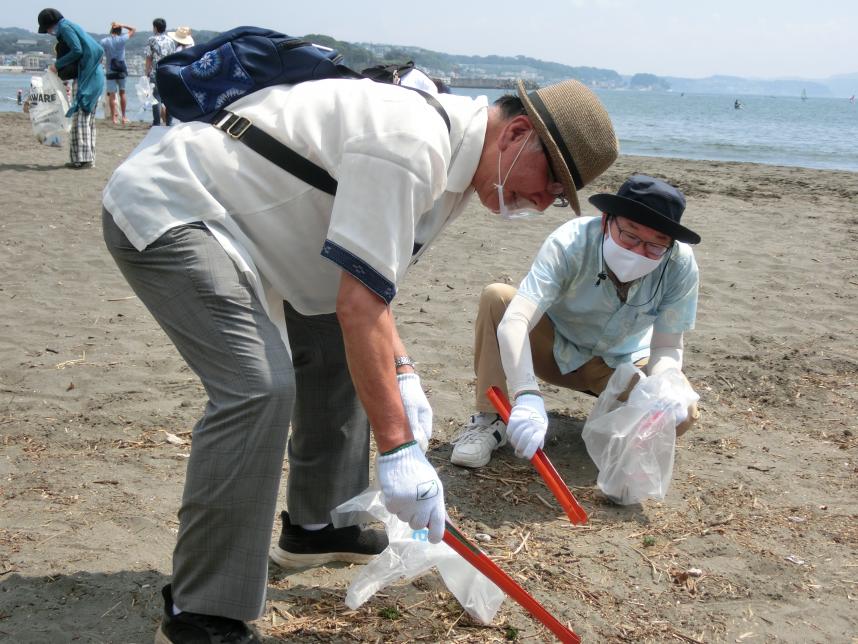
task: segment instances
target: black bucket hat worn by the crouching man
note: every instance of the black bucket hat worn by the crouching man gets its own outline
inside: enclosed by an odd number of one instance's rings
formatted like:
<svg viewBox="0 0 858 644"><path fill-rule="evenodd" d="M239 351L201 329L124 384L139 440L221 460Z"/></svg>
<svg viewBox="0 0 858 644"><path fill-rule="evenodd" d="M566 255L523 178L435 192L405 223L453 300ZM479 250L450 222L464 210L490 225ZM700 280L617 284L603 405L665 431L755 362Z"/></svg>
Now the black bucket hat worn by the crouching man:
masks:
<svg viewBox="0 0 858 644"><path fill-rule="evenodd" d="M686 244L700 243L700 235L679 223L685 211L685 195L661 179L633 175L617 194L593 195L590 203L608 215L631 219Z"/></svg>

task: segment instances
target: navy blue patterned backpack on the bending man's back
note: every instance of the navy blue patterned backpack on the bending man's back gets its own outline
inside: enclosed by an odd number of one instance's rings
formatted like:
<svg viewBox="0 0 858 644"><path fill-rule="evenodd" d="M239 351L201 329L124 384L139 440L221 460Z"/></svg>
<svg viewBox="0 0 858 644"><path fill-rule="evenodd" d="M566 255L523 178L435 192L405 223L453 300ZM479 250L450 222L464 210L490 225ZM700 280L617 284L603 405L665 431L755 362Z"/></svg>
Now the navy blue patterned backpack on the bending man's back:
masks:
<svg viewBox="0 0 858 644"><path fill-rule="evenodd" d="M158 61L155 82L180 121L207 121L263 87L360 75L334 49L259 27L236 27Z"/></svg>

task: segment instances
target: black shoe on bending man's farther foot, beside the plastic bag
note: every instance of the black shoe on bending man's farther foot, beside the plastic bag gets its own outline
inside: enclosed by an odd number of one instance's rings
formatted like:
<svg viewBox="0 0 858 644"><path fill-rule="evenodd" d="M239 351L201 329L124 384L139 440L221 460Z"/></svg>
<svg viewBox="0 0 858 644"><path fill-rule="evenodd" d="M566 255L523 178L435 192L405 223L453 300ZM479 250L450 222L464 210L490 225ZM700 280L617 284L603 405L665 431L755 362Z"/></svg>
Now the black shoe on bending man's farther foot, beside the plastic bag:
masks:
<svg viewBox="0 0 858 644"><path fill-rule="evenodd" d="M292 525L285 510L280 518L283 531L271 549L271 560L282 568L318 566L331 561L367 563L387 548L384 530L356 525L334 528L331 524L321 530L304 530Z"/></svg>

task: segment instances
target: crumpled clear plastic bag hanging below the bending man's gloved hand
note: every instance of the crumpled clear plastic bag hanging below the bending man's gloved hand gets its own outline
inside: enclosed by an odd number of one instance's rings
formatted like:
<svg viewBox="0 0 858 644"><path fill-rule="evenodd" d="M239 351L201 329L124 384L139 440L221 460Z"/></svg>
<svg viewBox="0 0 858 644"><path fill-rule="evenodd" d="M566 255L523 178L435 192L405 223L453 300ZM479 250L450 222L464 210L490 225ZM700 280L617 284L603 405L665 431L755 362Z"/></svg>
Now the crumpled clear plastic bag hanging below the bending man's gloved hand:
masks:
<svg viewBox="0 0 858 644"><path fill-rule="evenodd" d="M429 543L427 530L412 530L384 507L381 491L369 487L331 512L335 527L377 519L384 523L390 545L370 561L349 585L346 605L355 609L376 592L400 579L413 579L433 566L468 614L491 624L503 591L463 560L443 541Z"/></svg>

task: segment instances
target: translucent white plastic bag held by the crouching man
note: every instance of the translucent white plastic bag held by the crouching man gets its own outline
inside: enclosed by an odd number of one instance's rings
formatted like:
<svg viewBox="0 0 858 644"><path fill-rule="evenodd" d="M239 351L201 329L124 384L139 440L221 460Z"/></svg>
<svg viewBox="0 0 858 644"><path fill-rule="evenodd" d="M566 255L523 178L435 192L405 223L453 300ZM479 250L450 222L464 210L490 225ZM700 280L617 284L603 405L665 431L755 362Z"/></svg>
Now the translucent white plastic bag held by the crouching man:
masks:
<svg viewBox="0 0 858 644"><path fill-rule="evenodd" d="M617 400L635 374L640 381L628 401ZM581 434L599 468L599 489L621 505L664 499L673 474L677 420L698 398L678 369L648 378L631 363L617 367Z"/></svg>

